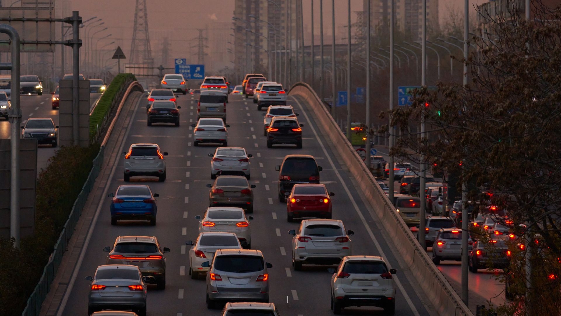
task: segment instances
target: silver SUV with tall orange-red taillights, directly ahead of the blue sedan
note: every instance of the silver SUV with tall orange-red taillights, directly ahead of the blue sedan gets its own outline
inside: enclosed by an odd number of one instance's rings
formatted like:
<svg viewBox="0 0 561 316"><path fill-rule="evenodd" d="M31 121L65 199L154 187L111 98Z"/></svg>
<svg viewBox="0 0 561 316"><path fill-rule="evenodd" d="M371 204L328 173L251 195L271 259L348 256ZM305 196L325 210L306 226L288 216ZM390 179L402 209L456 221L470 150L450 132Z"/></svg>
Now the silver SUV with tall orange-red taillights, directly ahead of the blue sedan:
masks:
<svg viewBox="0 0 561 316"><path fill-rule="evenodd" d="M165 181L164 156L168 153L160 151L158 144L132 144L122 155L125 156L125 182L135 175L148 175L158 177L160 182Z"/></svg>

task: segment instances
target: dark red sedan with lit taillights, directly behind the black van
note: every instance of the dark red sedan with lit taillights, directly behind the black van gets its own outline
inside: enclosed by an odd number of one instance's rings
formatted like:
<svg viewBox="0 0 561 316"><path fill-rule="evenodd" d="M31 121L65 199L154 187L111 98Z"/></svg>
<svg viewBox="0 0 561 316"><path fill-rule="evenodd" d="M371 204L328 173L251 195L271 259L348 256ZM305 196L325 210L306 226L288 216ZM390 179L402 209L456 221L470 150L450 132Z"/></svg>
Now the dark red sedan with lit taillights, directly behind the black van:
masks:
<svg viewBox="0 0 561 316"><path fill-rule="evenodd" d="M287 220L294 218L331 219L331 198L324 184L300 183L292 187L287 198Z"/></svg>

